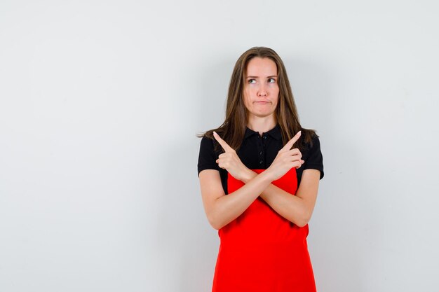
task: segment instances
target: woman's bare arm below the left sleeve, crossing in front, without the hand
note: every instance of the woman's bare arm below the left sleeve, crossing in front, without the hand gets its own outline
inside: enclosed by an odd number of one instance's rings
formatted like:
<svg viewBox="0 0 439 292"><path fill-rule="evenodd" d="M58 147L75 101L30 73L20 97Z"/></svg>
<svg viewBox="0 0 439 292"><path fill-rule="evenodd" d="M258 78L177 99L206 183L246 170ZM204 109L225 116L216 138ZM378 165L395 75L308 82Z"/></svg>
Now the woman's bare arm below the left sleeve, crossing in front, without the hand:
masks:
<svg viewBox="0 0 439 292"><path fill-rule="evenodd" d="M225 195L217 170L205 169L199 177L204 211L215 229L222 228L243 214L272 181L269 173L262 172L238 190Z"/></svg>

